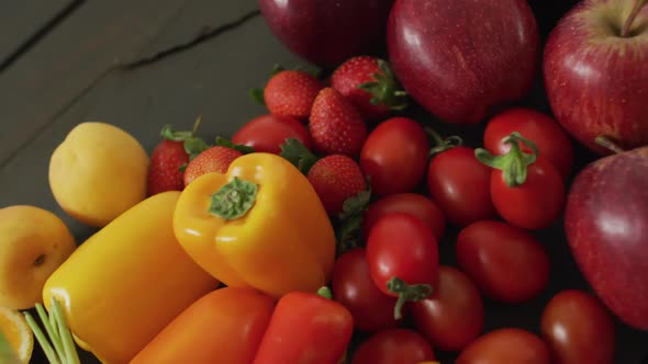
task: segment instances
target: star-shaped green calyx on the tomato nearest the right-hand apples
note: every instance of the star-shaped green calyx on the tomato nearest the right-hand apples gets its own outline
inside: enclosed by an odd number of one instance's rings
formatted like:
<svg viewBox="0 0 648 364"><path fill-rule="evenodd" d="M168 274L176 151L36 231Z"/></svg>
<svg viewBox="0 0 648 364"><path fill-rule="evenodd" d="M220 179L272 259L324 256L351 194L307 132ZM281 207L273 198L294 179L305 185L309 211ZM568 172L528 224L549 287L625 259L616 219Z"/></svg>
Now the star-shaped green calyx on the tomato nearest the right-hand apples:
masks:
<svg viewBox="0 0 648 364"><path fill-rule="evenodd" d="M527 167L535 163L538 158L538 147L535 143L526 139L519 133L513 132L502 139L503 143L510 144L511 149L502 156L493 156L483 148L474 150L474 157L482 163L499 169L504 174L504 181L510 187L523 185L526 181ZM530 153L522 151L519 144L529 147Z"/></svg>

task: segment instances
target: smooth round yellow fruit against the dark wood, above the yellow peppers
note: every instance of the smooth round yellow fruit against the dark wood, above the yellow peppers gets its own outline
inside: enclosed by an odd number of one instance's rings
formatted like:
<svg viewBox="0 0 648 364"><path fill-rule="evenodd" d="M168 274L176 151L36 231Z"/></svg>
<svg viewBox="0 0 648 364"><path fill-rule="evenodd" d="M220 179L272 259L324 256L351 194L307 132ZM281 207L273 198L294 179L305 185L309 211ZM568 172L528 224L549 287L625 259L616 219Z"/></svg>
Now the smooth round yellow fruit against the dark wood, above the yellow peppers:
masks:
<svg viewBox="0 0 648 364"><path fill-rule="evenodd" d="M71 217L103 227L146 197L148 155L125 130L87 122L72 128L49 160L49 187Z"/></svg>

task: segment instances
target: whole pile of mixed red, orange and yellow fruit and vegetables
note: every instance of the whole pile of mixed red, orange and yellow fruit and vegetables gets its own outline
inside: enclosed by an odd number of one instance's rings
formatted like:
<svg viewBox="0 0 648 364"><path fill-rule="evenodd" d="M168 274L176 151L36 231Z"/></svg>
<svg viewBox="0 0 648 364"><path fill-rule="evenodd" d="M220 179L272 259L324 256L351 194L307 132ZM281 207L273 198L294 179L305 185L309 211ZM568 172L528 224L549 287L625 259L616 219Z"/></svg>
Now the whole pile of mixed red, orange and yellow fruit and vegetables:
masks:
<svg viewBox="0 0 648 364"><path fill-rule="evenodd" d="M31 272L0 285L0 354L27 362L35 335L62 364L76 345L133 364L613 363L615 320L648 330L646 2L583 0L543 47L524 0L261 0L325 71L277 68L252 90L268 113L227 138L165 125L148 153L107 123L71 129L49 185L98 231L77 244L51 212L0 209L0 272ZM538 75L551 114L516 105ZM444 124L485 129L474 148ZM578 170L576 144L596 156ZM592 289L556 293L538 333L487 332L487 299L546 291L558 242L536 232L556 224Z"/></svg>

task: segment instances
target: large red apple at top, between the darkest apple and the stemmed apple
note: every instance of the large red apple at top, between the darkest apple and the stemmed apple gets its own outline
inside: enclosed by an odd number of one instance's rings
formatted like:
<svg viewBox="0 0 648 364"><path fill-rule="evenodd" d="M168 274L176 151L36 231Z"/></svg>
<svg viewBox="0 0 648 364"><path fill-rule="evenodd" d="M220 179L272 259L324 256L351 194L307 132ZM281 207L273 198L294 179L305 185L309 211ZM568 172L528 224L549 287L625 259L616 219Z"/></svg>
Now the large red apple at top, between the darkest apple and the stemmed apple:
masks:
<svg viewBox="0 0 648 364"><path fill-rule="evenodd" d="M522 99L539 67L526 0L396 0L387 42L405 90L450 123L479 123Z"/></svg>

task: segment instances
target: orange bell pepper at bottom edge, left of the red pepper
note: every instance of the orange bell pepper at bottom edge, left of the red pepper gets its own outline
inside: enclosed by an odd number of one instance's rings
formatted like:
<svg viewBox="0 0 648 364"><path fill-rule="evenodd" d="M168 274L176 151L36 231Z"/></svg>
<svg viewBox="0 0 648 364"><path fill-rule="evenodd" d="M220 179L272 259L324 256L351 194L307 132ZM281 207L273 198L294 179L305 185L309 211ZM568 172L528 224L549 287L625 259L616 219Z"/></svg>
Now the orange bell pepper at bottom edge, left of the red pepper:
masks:
<svg viewBox="0 0 648 364"><path fill-rule="evenodd" d="M254 288L224 287L189 306L131 364L249 364L275 300Z"/></svg>

